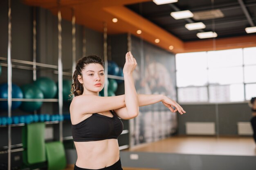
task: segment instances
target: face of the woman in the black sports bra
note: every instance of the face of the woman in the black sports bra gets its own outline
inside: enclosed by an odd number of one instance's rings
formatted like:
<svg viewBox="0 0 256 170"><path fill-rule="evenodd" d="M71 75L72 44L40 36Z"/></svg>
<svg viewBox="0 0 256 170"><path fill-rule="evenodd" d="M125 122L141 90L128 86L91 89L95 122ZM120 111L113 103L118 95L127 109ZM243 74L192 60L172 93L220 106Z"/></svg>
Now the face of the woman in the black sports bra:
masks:
<svg viewBox="0 0 256 170"><path fill-rule="evenodd" d="M82 70L82 77L79 75L80 83L83 83L84 93L100 92L105 83L104 68L98 63L90 63ZM89 92L89 93L87 93Z"/></svg>

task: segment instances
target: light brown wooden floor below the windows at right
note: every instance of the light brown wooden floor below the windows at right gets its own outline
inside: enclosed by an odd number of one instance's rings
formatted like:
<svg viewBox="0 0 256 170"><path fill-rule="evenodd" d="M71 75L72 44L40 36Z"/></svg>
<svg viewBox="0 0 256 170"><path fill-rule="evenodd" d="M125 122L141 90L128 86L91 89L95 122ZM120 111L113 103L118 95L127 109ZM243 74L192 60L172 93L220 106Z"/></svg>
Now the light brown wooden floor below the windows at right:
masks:
<svg viewBox="0 0 256 170"><path fill-rule="evenodd" d="M169 137L123 151L256 156L256 144L252 137L183 136Z"/></svg>

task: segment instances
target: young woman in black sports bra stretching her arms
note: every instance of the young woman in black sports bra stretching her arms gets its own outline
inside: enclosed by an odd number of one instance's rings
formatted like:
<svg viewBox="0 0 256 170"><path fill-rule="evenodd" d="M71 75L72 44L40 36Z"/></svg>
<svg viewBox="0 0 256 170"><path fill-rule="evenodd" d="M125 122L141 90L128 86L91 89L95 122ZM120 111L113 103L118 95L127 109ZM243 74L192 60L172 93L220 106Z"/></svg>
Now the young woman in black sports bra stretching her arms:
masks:
<svg viewBox="0 0 256 170"><path fill-rule="evenodd" d="M122 170L117 138L123 131L123 123L119 118L135 118L139 106L162 101L172 112L185 113L166 96L137 94L132 78L136 65L136 59L127 52L123 69L125 94L101 97L99 92L105 81L103 60L88 56L77 62L72 84L75 97L70 104L77 152L74 170Z"/></svg>

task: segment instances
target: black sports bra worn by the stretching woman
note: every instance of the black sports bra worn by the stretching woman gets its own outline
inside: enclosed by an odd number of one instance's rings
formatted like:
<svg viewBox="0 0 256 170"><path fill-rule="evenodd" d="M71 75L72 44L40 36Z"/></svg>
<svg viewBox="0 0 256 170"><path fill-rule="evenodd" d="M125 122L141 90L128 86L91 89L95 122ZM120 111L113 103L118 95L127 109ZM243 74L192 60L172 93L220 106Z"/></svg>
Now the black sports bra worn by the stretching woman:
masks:
<svg viewBox="0 0 256 170"><path fill-rule="evenodd" d="M93 113L89 118L72 124L74 142L88 142L104 139L117 139L124 129L123 122L110 111L113 117Z"/></svg>

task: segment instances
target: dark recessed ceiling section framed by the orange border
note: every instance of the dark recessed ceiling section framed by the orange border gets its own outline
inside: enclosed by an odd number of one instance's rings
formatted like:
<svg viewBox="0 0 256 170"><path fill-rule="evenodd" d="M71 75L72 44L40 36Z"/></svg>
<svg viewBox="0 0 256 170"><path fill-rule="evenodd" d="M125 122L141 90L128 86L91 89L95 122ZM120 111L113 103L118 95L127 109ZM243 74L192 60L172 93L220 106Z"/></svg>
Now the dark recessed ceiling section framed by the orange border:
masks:
<svg viewBox="0 0 256 170"><path fill-rule="evenodd" d="M249 12L252 22L256 24L256 0L243 0L243 3ZM126 7L180 38L182 41L199 40L196 33L200 31L189 31L185 28L185 24L189 24L189 22L203 22L206 28L202 31L214 30L218 34L217 38L247 35L245 28L250 27L242 5L238 0L178 0L175 3L162 5L157 5L151 1L130 4L126 5ZM195 16L198 12L216 9L219 9L223 15L215 19L193 17L190 19L191 21L185 19L175 20L170 15L171 12L177 10L190 10Z"/></svg>

